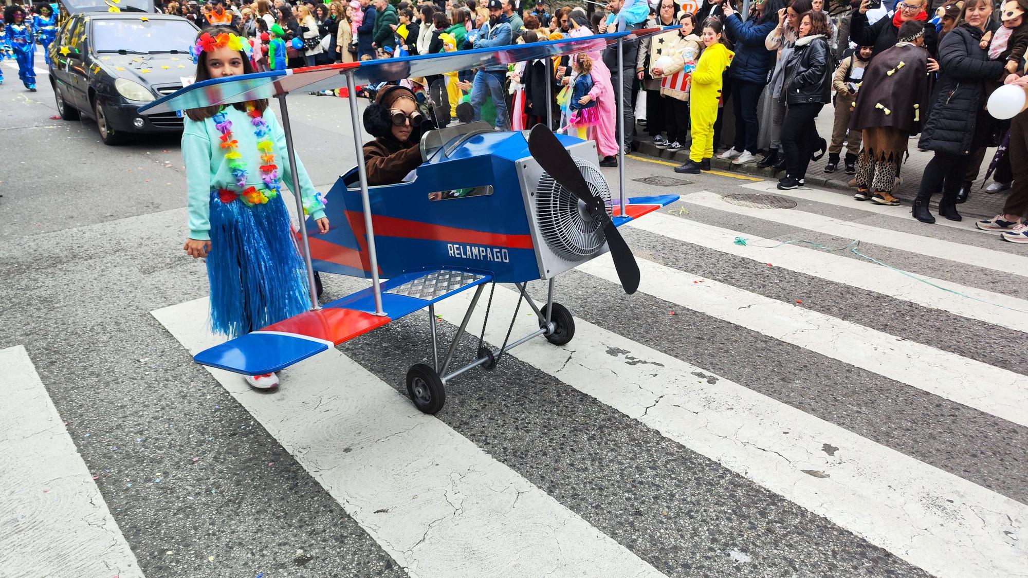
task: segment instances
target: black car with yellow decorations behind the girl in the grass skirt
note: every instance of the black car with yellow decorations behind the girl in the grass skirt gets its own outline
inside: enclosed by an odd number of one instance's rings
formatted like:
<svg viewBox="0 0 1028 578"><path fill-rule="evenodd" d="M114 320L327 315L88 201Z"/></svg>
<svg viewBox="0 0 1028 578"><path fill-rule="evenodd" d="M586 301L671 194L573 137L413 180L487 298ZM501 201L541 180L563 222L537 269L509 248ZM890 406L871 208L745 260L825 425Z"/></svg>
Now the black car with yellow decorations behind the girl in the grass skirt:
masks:
<svg viewBox="0 0 1028 578"><path fill-rule="evenodd" d="M96 118L109 145L133 134L181 132L181 113L136 110L192 81L196 66L189 46L197 30L186 19L152 12L70 14L50 45L49 77L61 118Z"/></svg>

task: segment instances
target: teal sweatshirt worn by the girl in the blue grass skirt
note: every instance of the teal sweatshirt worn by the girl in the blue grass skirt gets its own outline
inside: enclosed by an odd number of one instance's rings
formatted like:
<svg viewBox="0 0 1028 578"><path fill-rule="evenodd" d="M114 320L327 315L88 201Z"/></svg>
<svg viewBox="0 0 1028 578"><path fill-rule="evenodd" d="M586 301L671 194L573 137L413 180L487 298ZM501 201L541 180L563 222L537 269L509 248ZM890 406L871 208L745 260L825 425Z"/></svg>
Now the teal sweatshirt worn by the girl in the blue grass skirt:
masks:
<svg viewBox="0 0 1028 578"><path fill-rule="evenodd" d="M260 151L257 150L257 137L254 136L250 117L235 107L225 107L225 115L232 122L232 139L238 141L238 151L247 164L247 186L264 187L261 180ZM238 192L232 171L225 160L224 149L221 148L221 133L214 127L214 120L208 118L195 121L185 117L185 130L182 133L182 159L186 166L186 188L189 210L189 239L208 241L211 239L211 189L228 188ZM289 190L296 194L293 174L289 167L289 156L286 153L286 133L279 124L274 112L268 107L264 111L264 120L271 130L271 141L274 143L274 164L279 167L279 178L286 183ZM300 190L303 193L305 207L318 206L310 216L318 220L325 216L322 205L315 198L314 183L307 176L303 164L296 158L296 171L300 178Z"/></svg>

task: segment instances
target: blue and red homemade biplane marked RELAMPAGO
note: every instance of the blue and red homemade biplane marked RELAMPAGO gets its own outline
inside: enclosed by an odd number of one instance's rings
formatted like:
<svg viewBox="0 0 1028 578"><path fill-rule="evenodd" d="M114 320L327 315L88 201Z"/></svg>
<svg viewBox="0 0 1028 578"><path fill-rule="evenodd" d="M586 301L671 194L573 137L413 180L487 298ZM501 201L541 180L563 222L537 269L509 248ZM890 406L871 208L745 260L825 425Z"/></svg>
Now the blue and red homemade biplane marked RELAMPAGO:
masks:
<svg viewBox="0 0 1028 578"><path fill-rule="evenodd" d="M523 60L545 59L551 66L550 57L614 49L612 44L617 44L620 60L624 41L661 31L215 78L141 107L140 113L276 98L295 171L286 106L290 93L346 86L354 146L361 159L357 84ZM449 107L442 108L446 113L440 125L450 120ZM435 413L445 401L444 385L456 375L474 367L491 369L505 352L540 335L555 345L572 339L574 319L566 308L553 301L554 280L561 273L610 251L625 291L633 293L639 270L617 227L678 200L677 195L656 195L626 201L624 151L619 161L620 194L612 195L596 166L595 143L555 135L542 124L525 132L497 131L482 121L446 125L426 133L420 149L421 165L401 183L369 186L360 161L342 175L327 195L326 215L332 228L325 236L308 239L306 231L313 223L301 219L297 237L310 282L309 311L203 351L195 361L246 375L269 373L428 309L433 364L419 363L409 369L407 391L419 410ZM298 182L295 175L294 182ZM299 195L295 196L302 215ZM369 278L371 286L320 305L315 272ZM534 280L549 282L545 304L537 304L525 291ZM528 303L539 317L539 329L497 350L482 347L475 361L450 370L457 344L487 283L514 284L520 293L518 306L520 299ZM440 364L435 303L473 287L471 304Z"/></svg>

